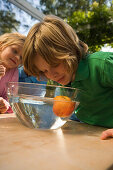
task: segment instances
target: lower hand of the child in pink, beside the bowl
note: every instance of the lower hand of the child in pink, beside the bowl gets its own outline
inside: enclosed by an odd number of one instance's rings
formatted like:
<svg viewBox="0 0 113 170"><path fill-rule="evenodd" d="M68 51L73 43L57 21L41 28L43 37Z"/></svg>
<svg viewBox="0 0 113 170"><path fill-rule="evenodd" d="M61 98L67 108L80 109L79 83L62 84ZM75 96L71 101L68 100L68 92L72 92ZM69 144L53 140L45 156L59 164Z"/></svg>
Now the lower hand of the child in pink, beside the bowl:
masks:
<svg viewBox="0 0 113 170"><path fill-rule="evenodd" d="M5 113L9 109L9 103L0 97L0 113Z"/></svg>

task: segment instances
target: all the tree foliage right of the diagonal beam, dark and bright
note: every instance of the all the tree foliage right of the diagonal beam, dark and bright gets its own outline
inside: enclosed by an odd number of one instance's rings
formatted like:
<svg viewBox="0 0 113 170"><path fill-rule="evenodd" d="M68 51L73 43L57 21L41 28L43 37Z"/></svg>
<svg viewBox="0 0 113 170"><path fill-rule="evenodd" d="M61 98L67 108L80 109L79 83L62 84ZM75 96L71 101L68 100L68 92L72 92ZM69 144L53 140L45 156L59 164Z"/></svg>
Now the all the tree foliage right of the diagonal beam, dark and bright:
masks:
<svg viewBox="0 0 113 170"><path fill-rule="evenodd" d="M40 4L45 14L68 21L90 51L99 51L104 44L113 47L113 0L40 0Z"/></svg>

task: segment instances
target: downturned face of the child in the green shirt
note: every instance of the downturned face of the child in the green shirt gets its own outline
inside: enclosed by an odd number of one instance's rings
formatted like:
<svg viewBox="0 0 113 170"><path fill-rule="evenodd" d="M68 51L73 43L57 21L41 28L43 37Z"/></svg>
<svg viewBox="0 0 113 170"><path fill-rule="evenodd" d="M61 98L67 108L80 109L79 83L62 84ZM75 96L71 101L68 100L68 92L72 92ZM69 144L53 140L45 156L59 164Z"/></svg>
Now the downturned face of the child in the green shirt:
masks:
<svg viewBox="0 0 113 170"><path fill-rule="evenodd" d="M56 81L62 85L67 85L72 81L72 73L67 71L64 63L52 67L40 56L36 57L34 62L38 70L43 72L48 79Z"/></svg>

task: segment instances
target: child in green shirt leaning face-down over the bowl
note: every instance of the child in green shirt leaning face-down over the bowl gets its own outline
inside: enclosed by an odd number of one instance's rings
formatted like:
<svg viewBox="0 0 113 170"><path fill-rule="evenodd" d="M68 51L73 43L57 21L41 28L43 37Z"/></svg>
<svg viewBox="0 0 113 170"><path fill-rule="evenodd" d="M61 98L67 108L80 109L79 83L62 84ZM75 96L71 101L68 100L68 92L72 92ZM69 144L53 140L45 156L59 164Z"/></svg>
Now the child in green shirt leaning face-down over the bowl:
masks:
<svg viewBox="0 0 113 170"><path fill-rule="evenodd" d="M113 128L113 53L88 54L88 46L56 16L35 24L25 41L23 62L28 74L44 74L62 85L81 89L77 118ZM101 139L113 136L105 131Z"/></svg>

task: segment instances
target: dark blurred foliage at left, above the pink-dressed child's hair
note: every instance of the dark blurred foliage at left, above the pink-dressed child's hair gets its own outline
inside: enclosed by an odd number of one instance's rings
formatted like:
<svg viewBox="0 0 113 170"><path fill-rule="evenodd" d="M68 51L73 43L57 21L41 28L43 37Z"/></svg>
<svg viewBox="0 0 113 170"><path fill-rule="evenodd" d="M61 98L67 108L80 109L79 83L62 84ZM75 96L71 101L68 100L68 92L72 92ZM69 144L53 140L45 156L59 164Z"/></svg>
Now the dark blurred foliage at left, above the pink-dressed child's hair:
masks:
<svg viewBox="0 0 113 170"><path fill-rule="evenodd" d="M0 35L6 32L17 31L20 22L15 19L15 14L10 11L0 10Z"/></svg>

